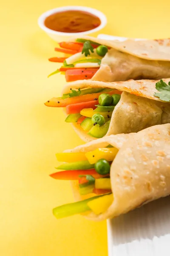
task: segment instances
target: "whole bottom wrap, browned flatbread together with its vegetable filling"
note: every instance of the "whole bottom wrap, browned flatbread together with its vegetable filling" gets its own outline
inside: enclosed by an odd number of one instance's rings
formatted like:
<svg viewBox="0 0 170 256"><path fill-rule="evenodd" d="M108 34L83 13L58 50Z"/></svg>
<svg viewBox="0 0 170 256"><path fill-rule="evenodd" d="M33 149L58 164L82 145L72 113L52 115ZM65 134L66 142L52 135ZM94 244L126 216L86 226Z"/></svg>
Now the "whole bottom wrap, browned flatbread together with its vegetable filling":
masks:
<svg viewBox="0 0 170 256"><path fill-rule="evenodd" d="M50 176L72 180L81 201L54 208L56 218L113 218L170 194L170 124L98 139L57 159L67 162L57 167L65 171Z"/></svg>

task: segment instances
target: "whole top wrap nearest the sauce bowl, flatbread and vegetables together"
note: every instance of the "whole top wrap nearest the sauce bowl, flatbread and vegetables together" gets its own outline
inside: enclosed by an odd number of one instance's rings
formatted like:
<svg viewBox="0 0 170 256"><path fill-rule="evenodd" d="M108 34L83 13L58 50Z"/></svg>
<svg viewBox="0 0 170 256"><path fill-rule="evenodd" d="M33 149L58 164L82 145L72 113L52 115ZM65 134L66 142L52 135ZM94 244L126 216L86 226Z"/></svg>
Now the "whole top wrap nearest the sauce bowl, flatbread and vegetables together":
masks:
<svg viewBox="0 0 170 256"><path fill-rule="evenodd" d="M55 51L68 57L49 58L49 61L62 63L49 76L65 74L67 82L170 77L170 39L119 42L85 36L61 42L59 46Z"/></svg>

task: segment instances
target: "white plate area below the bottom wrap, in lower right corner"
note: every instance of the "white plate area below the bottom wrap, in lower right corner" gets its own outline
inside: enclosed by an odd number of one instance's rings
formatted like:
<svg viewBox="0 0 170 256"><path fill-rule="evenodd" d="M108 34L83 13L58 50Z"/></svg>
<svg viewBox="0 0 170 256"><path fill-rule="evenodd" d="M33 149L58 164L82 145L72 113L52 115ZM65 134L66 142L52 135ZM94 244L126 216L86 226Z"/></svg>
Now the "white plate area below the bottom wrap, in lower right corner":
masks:
<svg viewBox="0 0 170 256"><path fill-rule="evenodd" d="M108 220L109 256L170 256L170 197Z"/></svg>

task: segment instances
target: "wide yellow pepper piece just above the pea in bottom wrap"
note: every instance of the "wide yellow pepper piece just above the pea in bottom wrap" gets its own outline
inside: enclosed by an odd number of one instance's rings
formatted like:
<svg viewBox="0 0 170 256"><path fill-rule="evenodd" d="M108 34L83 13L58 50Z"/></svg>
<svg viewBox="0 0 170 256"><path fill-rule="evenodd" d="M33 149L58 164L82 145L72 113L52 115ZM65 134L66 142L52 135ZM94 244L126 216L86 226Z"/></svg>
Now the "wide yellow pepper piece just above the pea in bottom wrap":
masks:
<svg viewBox="0 0 170 256"><path fill-rule="evenodd" d="M89 163L96 163L99 159L105 159L107 161L113 161L118 152L117 148L96 148L93 151L85 153L85 157Z"/></svg>

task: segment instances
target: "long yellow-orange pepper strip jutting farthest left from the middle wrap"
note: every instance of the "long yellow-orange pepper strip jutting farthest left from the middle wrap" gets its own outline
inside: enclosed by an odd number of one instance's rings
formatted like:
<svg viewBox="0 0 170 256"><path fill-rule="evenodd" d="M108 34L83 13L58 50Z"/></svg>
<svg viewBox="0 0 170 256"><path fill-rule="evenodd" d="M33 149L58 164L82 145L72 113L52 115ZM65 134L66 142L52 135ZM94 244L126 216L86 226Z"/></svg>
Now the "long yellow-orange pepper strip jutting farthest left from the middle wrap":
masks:
<svg viewBox="0 0 170 256"><path fill-rule="evenodd" d="M48 100L47 102L45 102L44 104L45 104L45 106L48 106L48 107L58 107L58 108L66 107L71 104L88 102L88 101L92 101L94 99L98 99L99 95L101 93L85 94L85 95L75 96L75 97L66 98L66 99L52 98L52 99ZM110 94L110 95L115 94L115 93L121 94L122 92L119 90L112 90L112 91L108 92L108 94Z"/></svg>

